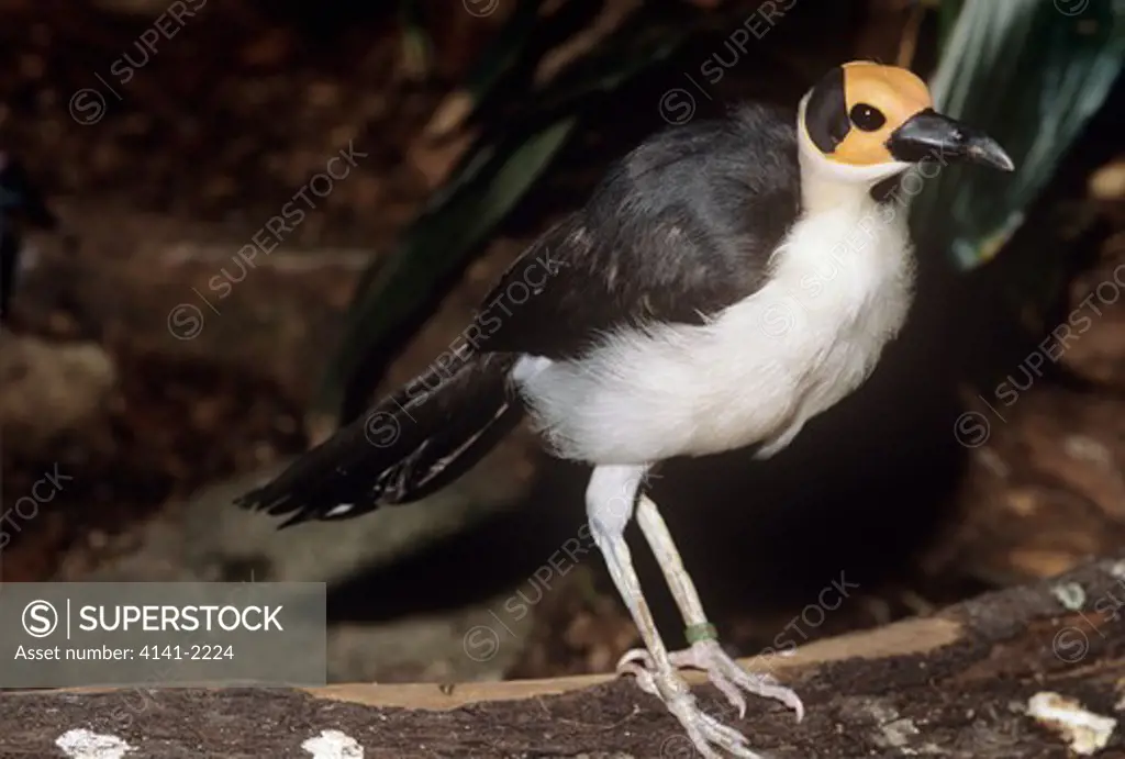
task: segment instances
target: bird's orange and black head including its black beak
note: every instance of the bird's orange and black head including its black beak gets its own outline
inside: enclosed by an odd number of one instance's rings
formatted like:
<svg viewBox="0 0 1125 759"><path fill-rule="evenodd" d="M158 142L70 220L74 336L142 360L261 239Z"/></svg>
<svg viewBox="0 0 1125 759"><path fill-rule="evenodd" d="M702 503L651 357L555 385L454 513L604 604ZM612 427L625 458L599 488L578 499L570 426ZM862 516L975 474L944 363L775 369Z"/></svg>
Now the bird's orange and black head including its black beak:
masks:
<svg viewBox="0 0 1125 759"><path fill-rule="evenodd" d="M868 61L836 66L801 100L802 162L836 181L868 186L926 160L1011 171L983 132L934 110L912 72Z"/></svg>

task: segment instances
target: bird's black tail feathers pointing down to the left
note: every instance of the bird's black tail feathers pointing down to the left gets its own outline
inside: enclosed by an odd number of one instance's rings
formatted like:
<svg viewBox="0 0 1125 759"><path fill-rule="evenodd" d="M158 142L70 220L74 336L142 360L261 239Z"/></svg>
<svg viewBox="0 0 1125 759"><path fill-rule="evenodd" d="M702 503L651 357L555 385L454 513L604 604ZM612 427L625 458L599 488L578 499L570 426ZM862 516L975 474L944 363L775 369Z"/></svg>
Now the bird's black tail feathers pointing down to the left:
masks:
<svg viewBox="0 0 1125 759"><path fill-rule="evenodd" d="M431 372L403 386L235 503L288 514L281 525L287 527L351 518L439 490L523 417L523 404L508 383L514 361L508 354L472 356L448 378Z"/></svg>

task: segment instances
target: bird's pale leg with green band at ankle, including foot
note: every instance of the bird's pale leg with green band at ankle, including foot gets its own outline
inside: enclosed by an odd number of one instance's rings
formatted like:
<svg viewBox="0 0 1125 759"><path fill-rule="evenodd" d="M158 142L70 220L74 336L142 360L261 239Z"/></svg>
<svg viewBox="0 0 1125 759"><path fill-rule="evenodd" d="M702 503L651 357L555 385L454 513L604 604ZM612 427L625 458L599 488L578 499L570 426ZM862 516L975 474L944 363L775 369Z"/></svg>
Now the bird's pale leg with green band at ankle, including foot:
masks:
<svg viewBox="0 0 1125 759"><path fill-rule="evenodd" d="M684 569L684 562L672 541L672 533L668 532L656 504L644 494L637 504L637 524L651 546L652 553L656 554L656 560L664 571L686 625L690 648L672 653L669 656L672 662L677 667L692 667L706 671L708 678L734 704L740 717L746 714L746 699L739 690L742 689L758 696L776 698L796 712L796 719L800 720L804 715L804 706L792 689L780 685L771 675L747 672L719 645L714 625L706 620L699 593L695 591L692 578ZM629 663L637 659L648 663L644 652L630 652L622 661Z"/></svg>

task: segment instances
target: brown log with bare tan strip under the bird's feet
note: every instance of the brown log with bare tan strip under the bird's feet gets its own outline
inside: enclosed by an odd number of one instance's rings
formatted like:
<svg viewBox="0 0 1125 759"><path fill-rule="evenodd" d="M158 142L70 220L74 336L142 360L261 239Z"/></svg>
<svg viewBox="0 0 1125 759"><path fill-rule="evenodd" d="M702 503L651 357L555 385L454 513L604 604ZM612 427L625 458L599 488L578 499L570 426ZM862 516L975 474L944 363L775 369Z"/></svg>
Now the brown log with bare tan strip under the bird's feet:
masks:
<svg viewBox="0 0 1125 759"><path fill-rule="evenodd" d="M821 641L792 657L746 660L798 688L808 707L801 724L760 699L738 720L711 686L696 693L776 759L1074 756L1071 740L1028 716L1027 705L1055 692L1125 723L1123 604L1125 560L1101 560L933 617ZM611 676L0 697L4 759L60 756L55 741L76 729L120 738L135 749L126 758L693 756L655 698ZM303 748L325 730L341 731L363 753ZM1102 733L1097 756L1125 757L1125 726Z"/></svg>

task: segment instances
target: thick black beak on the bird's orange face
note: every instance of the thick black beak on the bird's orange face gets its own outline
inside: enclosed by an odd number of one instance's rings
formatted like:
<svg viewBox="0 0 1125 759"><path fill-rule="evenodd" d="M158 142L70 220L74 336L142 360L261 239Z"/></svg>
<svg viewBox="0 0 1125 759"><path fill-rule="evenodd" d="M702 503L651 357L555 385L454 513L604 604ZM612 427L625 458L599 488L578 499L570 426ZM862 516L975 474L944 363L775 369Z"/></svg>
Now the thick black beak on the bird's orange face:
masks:
<svg viewBox="0 0 1125 759"><path fill-rule="evenodd" d="M979 129L942 116L932 108L911 116L891 133L886 148L897 161L919 163L928 156L979 163L1001 171L1015 164L1000 144Z"/></svg>

